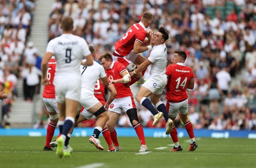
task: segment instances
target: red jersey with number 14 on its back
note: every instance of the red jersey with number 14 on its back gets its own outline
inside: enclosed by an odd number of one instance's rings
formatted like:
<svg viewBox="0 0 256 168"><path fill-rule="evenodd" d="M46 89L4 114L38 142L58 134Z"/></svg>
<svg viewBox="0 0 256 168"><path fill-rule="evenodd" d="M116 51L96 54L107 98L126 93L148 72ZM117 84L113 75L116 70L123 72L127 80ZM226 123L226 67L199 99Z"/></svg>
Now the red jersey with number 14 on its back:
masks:
<svg viewBox="0 0 256 168"><path fill-rule="evenodd" d="M187 87L194 74L189 66L182 63L169 65L166 68L166 75L169 76L166 88L166 100L180 102L188 98Z"/></svg>

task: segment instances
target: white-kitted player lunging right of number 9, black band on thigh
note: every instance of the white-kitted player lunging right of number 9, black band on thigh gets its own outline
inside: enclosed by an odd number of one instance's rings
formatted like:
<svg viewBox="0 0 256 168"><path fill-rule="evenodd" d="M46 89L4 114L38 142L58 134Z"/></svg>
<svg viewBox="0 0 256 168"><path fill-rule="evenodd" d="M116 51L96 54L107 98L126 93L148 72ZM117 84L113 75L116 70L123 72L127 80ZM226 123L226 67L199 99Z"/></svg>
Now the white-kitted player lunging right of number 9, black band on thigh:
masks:
<svg viewBox="0 0 256 168"><path fill-rule="evenodd" d="M95 59L95 57L93 57L93 59ZM78 122L82 119L84 120L84 118L92 118L92 115L97 117L93 135L90 137L89 141L94 144L97 149L104 150L100 145L99 135L109 119L106 109L108 109L109 104L115 99L116 89L115 86L109 82L103 66L99 65L96 61L93 61L93 65L91 66L81 66L81 77L82 91L80 103L83 105L84 110L81 112ZM102 84L108 87L110 91L110 96L106 102L106 109L94 95L95 84L97 84L98 79L100 79Z"/></svg>

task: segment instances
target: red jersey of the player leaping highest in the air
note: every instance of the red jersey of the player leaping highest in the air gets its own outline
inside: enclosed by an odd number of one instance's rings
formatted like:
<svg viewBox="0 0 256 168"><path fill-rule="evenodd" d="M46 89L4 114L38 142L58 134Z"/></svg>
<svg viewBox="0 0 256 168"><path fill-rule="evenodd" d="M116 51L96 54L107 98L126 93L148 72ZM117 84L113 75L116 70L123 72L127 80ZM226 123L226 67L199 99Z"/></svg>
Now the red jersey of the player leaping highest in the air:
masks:
<svg viewBox="0 0 256 168"><path fill-rule="evenodd" d="M115 43L115 50L121 56L127 56L133 50L135 40L143 43L146 36L145 28L141 22L133 24L122 38Z"/></svg>

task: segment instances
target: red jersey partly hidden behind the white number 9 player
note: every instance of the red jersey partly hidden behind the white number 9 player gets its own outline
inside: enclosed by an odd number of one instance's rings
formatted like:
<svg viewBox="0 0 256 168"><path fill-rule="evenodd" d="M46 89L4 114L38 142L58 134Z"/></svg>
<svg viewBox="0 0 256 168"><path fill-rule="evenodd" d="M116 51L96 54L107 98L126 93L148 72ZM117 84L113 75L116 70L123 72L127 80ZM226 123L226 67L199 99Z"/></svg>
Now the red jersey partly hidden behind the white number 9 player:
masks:
<svg viewBox="0 0 256 168"><path fill-rule="evenodd" d="M43 92L44 98L55 98L55 88L53 84L55 68L56 68L56 60L55 60L55 57L53 56L48 63L48 69L47 69L46 75L50 84L44 86L44 92Z"/></svg>

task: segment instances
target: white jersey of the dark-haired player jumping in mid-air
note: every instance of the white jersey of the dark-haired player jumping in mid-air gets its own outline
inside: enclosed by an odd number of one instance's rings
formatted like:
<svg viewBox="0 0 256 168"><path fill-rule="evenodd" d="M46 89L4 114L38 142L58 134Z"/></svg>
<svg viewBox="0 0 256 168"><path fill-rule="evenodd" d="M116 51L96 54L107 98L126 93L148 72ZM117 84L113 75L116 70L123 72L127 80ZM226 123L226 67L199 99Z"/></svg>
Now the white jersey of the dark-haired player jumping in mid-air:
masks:
<svg viewBox="0 0 256 168"><path fill-rule="evenodd" d="M152 63L150 69L150 76L165 75L165 69L167 65L167 48L165 43L161 45L155 45L150 52L148 61Z"/></svg>

